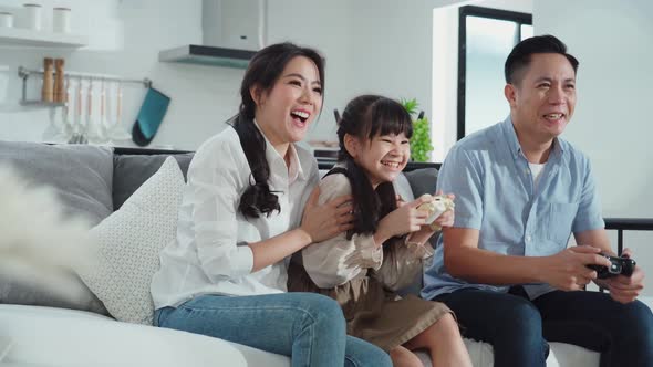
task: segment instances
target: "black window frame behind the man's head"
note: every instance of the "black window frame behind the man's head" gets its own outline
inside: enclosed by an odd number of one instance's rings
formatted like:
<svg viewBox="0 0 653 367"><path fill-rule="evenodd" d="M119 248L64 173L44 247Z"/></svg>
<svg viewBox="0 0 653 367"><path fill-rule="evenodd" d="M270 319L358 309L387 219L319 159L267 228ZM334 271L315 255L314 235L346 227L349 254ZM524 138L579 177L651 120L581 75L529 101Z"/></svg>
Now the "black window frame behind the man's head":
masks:
<svg viewBox="0 0 653 367"><path fill-rule="evenodd" d="M456 140L465 137L465 93L467 84L467 17L505 20L517 23L517 42L521 40L521 25L532 25L532 14L501 9L474 6L460 7L458 10L458 124Z"/></svg>

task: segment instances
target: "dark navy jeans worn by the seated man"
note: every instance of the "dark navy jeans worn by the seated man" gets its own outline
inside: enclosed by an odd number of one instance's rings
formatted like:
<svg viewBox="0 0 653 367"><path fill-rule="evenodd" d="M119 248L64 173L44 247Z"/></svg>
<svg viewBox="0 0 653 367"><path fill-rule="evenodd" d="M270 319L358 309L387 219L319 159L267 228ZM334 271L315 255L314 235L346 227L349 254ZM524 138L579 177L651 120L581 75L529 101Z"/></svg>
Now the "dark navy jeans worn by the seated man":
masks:
<svg viewBox="0 0 653 367"><path fill-rule="evenodd" d="M456 313L464 336L487 342L495 366L546 366L546 340L601 353L601 367L653 366L653 314L640 301L621 304L608 293L547 293L529 301L510 293L460 290L435 297Z"/></svg>

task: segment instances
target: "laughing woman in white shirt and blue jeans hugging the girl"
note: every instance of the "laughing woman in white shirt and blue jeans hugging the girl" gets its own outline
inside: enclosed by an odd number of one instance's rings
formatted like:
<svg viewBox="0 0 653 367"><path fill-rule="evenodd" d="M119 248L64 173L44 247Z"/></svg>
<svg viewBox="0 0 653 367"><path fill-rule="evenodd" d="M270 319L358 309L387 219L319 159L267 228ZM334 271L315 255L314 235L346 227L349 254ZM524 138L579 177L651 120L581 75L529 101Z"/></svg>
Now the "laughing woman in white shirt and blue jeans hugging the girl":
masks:
<svg viewBox="0 0 653 367"><path fill-rule="evenodd" d="M239 113L188 168L177 240L152 283L157 326L287 355L292 366L391 365L346 336L333 300L287 293L286 258L351 228L350 198L309 198L318 165L294 145L320 113L323 81L311 49L274 44L250 61Z"/></svg>

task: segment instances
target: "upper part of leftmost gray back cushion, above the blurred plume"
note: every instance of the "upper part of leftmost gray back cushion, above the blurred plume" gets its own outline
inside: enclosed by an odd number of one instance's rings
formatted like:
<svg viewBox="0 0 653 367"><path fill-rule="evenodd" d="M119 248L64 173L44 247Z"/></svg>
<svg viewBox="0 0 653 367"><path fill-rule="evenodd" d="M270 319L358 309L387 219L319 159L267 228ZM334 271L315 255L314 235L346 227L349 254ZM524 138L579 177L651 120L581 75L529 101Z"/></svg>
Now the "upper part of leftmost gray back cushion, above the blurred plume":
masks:
<svg viewBox="0 0 653 367"><path fill-rule="evenodd" d="M0 141L0 162L14 166L31 185L46 182L68 213L99 223L113 211L113 149L86 145Z"/></svg>

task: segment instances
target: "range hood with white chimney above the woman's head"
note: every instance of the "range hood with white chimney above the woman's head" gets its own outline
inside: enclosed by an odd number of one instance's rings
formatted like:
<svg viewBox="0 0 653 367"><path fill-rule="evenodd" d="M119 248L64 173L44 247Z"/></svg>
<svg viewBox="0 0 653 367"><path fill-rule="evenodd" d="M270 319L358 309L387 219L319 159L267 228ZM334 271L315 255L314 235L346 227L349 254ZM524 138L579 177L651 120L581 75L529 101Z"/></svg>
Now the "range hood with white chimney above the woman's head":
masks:
<svg viewBox="0 0 653 367"><path fill-rule="evenodd" d="M158 53L158 61L247 67L266 38L267 0L203 0L201 44Z"/></svg>

